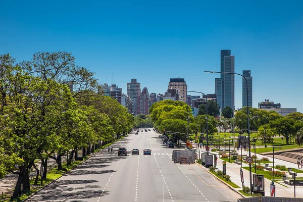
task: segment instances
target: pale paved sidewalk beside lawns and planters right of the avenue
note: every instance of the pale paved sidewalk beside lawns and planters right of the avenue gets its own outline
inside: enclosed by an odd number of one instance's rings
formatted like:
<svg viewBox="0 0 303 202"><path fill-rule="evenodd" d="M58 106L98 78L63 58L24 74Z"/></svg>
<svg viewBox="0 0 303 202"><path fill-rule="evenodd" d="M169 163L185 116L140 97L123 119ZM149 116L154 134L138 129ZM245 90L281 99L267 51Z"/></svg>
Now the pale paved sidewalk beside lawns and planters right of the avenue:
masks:
<svg viewBox="0 0 303 202"><path fill-rule="evenodd" d="M194 148L196 148L196 147L194 147ZM201 152L202 151L206 151L205 148L198 148L198 152L200 152L200 158L201 158ZM218 154L218 152L217 153L212 152L212 153L213 154ZM245 154L246 151L244 153L244 150L243 150L242 153ZM247 155L248 155L248 152L247 152ZM251 156L252 155L254 155L254 153L251 153ZM266 158L269 159L269 161L271 161L271 162L273 161L273 158L268 157L268 156L263 156L263 155L259 155L259 154L256 154L256 156L257 156L258 159L266 157ZM223 160L218 158L217 168L221 171L223 169L223 163L222 162L223 162ZM232 160L230 160L230 162L231 163L229 163L227 161L226 173L227 173L227 175L230 176L230 180L233 183L235 183L236 185L241 187L241 188L236 188L236 190L242 190L242 183L241 183L241 179L240 179L241 165L234 164ZM279 159L275 159L275 165L284 165L284 166L286 166L286 168L297 168L296 164L286 162L286 161L283 161L283 160L279 160ZM242 163L242 166L243 167L248 167L249 165L245 164L245 163ZM270 163L269 166L273 166L273 163ZM300 168L300 169L303 170L303 168ZM244 177L244 186L249 187L249 171L245 170L245 169L242 169L242 171L243 171L243 177ZM254 171L255 171L254 168L252 168L251 171L252 171L252 174L255 174L254 173ZM303 173L298 173L297 177L303 177ZM291 179L290 175L288 175L288 179ZM270 184L271 184L271 182L272 182L271 180L264 178L265 195L266 196L270 196ZM281 185L281 184L283 184L283 185ZM281 184L279 184L278 182L275 182L276 196L278 196L278 197L294 197L294 187L293 186L288 186L287 184L284 184L284 183L281 183ZM303 186L296 186L295 189L296 189L296 197L303 198Z"/></svg>

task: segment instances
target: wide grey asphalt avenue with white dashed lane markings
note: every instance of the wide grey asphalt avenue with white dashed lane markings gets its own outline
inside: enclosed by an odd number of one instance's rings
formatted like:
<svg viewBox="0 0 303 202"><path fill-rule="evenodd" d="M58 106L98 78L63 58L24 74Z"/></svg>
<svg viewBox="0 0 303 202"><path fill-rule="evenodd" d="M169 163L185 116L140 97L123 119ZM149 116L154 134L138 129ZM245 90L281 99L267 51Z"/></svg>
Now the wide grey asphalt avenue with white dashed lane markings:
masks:
<svg viewBox="0 0 303 202"><path fill-rule="evenodd" d="M198 165L171 161L172 148L154 131L130 134L104 149L28 201L237 201L229 189ZM118 157L126 147L126 157ZM138 148L140 155L132 155ZM143 155L150 148L151 155Z"/></svg>

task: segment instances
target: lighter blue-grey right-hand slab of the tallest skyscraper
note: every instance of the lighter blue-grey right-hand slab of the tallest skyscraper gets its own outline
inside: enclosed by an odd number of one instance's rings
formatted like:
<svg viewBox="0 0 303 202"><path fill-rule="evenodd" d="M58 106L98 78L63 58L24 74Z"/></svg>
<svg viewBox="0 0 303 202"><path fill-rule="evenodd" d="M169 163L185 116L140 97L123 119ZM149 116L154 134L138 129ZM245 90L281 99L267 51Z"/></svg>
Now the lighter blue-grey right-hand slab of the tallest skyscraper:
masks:
<svg viewBox="0 0 303 202"><path fill-rule="evenodd" d="M235 57L224 56L224 72L235 73ZM235 106L235 75L225 74L223 81L223 108L229 106L234 110ZM222 108L222 110L223 110Z"/></svg>

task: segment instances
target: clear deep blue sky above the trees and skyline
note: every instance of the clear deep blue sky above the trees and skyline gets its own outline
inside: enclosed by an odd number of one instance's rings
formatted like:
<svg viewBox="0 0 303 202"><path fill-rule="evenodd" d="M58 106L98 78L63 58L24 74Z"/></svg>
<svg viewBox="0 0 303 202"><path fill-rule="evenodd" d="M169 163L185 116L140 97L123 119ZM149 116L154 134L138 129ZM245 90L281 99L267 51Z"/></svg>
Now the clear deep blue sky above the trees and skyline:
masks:
<svg viewBox="0 0 303 202"><path fill-rule="evenodd" d="M170 78L214 93L220 49L235 72L251 70L253 107L265 98L303 112L303 1L5 1L0 54L72 52L99 82L112 75L126 92L136 78L164 93ZM108 76L107 76L108 75ZM242 107L242 78L235 77Z"/></svg>

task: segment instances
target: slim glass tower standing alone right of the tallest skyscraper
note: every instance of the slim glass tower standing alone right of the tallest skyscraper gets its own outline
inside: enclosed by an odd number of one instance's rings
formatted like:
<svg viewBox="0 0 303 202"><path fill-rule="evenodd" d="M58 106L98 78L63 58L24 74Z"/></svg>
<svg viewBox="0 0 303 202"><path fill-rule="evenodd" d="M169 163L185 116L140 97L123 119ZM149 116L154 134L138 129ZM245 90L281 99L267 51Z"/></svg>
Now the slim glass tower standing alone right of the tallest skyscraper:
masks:
<svg viewBox="0 0 303 202"><path fill-rule="evenodd" d="M252 77L250 76L250 70L243 70L243 76L247 80L248 87L248 106L252 107ZM246 81L242 78L242 107L247 106L247 92Z"/></svg>

